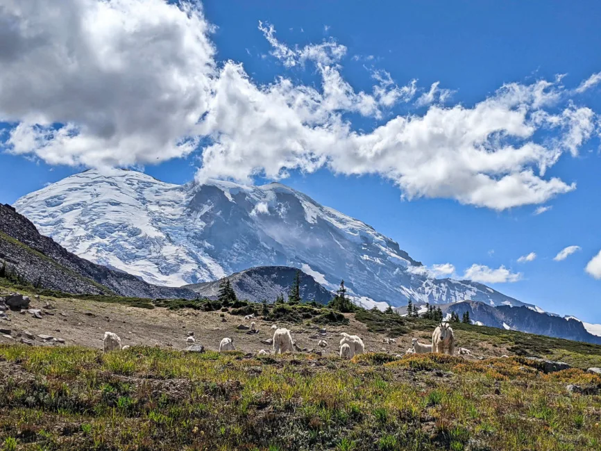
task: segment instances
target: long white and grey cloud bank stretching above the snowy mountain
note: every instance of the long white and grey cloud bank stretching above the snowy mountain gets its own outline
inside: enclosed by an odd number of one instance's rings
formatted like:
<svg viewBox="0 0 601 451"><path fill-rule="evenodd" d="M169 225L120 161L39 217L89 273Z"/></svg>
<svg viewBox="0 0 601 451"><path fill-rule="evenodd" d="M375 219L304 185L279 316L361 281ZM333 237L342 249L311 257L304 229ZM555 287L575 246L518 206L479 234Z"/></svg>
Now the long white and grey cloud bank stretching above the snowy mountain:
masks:
<svg viewBox="0 0 601 451"><path fill-rule="evenodd" d="M379 175L407 199L501 211L574 190L545 172L565 151L576 155L598 121L586 107L558 110L568 95L561 77L509 83L473 106L444 106L452 92L437 82L416 101L423 113L384 121L389 108L413 101L416 81L376 71L371 90L357 91L342 74L343 44L290 47L263 23L282 70L312 65L321 85L286 76L258 85L241 64L215 60L196 2L4 0L0 24L6 147L51 164L160 163L202 143L198 181L326 167ZM357 129L353 115L374 128ZM540 138L545 130L557 138Z"/></svg>

